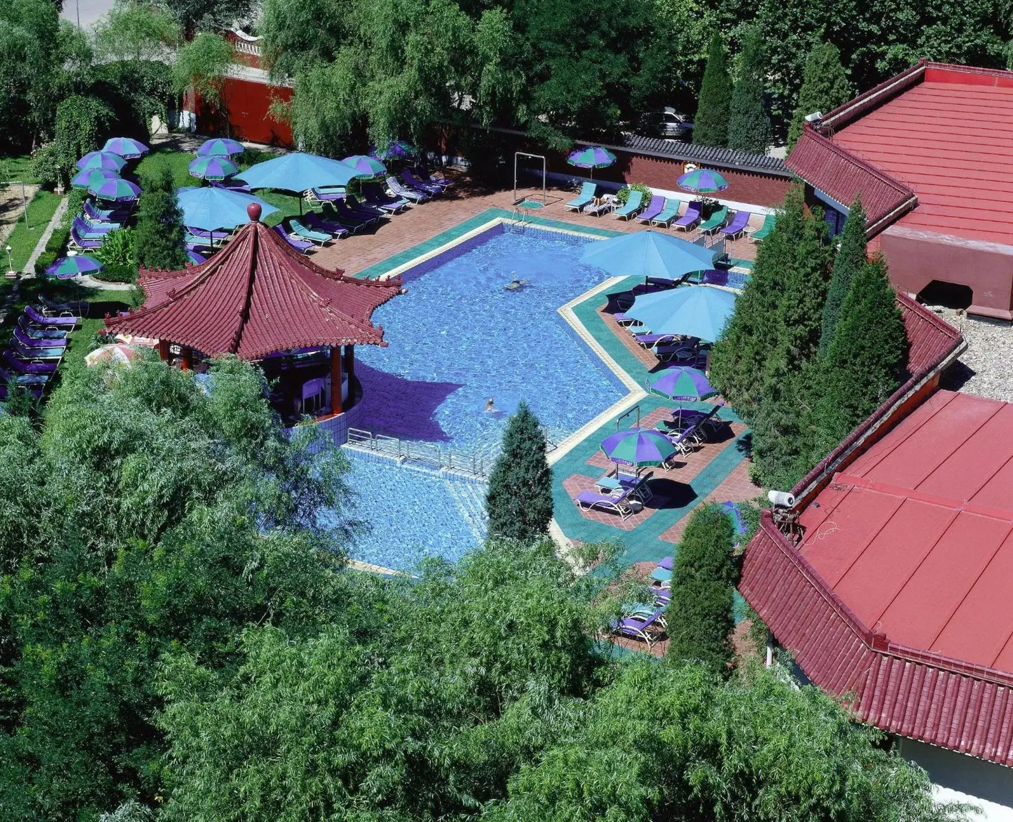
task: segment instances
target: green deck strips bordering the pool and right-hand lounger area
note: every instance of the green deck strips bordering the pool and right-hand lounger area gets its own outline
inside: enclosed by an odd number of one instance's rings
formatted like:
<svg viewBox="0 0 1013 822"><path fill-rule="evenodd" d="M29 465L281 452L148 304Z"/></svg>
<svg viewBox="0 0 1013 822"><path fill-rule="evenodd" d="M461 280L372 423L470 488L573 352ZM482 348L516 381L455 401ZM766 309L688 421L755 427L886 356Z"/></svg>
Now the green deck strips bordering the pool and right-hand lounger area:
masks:
<svg viewBox="0 0 1013 822"><path fill-rule="evenodd" d="M421 257L433 254L443 246L455 243L465 235L471 234L493 220L511 220L512 218L516 218L516 213L505 209L486 209L474 217L458 223L411 248L393 254L380 263L358 272L355 276L363 278L382 277L415 260L420 260ZM525 214L524 223L526 225L567 231L603 239L619 236L622 233L597 226L574 225L573 223L559 220L550 220L530 213ZM640 280L641 278L638 277L628 277L616 283L607 292L591 294L573 306L573 315L595 341L605 349L615 364L638 385L642 386L651 369L648 369L647 366L641 363L623 345L598 312L599 306L607 300L608 294L628 291L639 283ZM644 522L632 530L626 531L583 517L570 499L569 494L563 488L563 480L572 474L582 474L592 478L601 475L602 469L594 465L589 465L588 460L598 452L601 441L616 430L616 419L635 405L639 404L641 414L646 416L659 406L676 408L679 404L682 404L684 408L709 409L713 404L708 401L677 403L654 395L641 396L637 399L634 395L630 394L628 395L628 400L623 405L621 412L598 426L582 440L572 445L566 453L554 462L552 465L552 496L556 522L569 539L581 542L619 541L626 547L624 561L632 565L647 561L656 562L673 553L675 545L660 539L660 535L687 516L746 459L746 438L749 436L750 431L746 430L735 437L733 442L728 443L725 448L716 453L693 477L688 483L693 493L692 495L687 495L687 501L683 505L655 511ZM721 408L719 416L730 423L742 422L735 416L734 412L727 406ZM631 425L632 422L628 424ZM627 423L624 423L624 425L627 425ZM673 478L678 481L678 476Z"/></svg>

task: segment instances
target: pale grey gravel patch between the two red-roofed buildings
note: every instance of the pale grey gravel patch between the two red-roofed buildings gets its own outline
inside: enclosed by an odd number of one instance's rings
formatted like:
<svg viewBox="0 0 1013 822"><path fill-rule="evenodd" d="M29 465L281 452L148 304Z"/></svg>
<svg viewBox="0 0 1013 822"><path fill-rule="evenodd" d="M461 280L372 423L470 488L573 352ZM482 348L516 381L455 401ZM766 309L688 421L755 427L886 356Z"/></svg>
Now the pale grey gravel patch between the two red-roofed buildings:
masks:
<svg viewBox="0 0 1013 822"><path fill-rule="evenodd" d="M967 350L943 374L942 387L1013 402L1013 325L952 308L927 307L959 328L967 342Z"/></svg>

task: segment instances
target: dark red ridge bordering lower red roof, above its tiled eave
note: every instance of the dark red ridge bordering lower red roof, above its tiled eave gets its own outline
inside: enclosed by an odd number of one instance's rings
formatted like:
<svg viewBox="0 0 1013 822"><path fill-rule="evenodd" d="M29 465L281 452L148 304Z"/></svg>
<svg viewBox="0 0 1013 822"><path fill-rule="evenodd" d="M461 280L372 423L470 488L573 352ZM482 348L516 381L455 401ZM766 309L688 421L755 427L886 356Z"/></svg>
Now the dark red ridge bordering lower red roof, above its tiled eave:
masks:
<svg viewBox="0 0 1013 822"><path fill-rule="evenodd" d="M753 541L758 538L766 538L770 544L775 545L778 550L780 550L792 563L792 565L795 566L799 575L801 575L806 582L812 586L814 593L816 593L821 599L826 601L836 611L837 616L845 621L848 627L854 632L855 638L867 646L870 651L883 656L894 657L906 662L931 665L933 668L937 668L941 671L947 671L960 676L970 676L983 682L991 682L992 684L1000 685L1002 687L1013 687L1013 671L1002 671L985 665L976 665L973 663L964 662L963 660L953 659L952 657L937 654L933 651L925 651L920 648L912 648L911 646L903 645L901 643L894 643L891 642L886 634L875 631L866 625L855 614L855 612L848 607L837 592L827 584L827 581L820 576L820 573L814 568L812 568L808 559L806 559L805 556L803 556L795 547L795 545L792 544L792 542L783 533L781 533L781 530L774 524L770 511L763 512L760 522L760 531L757 532L756 536L753 537L753 540L750 540L750 544L747 545L747 556L749 556L749 552L753 547ZM743 571L743 579L744 581L747 581L745 567ZM751 582L747 581L746 584L749 588ZM742 588L742 585L739 588ZM761 607L757 607L757 604L758 603L754 600L750 600L750 605L756 609L761 618L763 618L764 621L770 625L770 622L761 610L763 603L760 603ZM777 636L778 630L776 626L771 625L771 627L774 630L775 636ZM785 647L792 650L790 646ZM806 675L811 678L811 674L809 674L808 671L806 671ZM813 681L816 682L814 678ZM821 687L826 687L820 682L816 682L816 684ZM859 696L861 696L861 694L859 694Z"/></svg>

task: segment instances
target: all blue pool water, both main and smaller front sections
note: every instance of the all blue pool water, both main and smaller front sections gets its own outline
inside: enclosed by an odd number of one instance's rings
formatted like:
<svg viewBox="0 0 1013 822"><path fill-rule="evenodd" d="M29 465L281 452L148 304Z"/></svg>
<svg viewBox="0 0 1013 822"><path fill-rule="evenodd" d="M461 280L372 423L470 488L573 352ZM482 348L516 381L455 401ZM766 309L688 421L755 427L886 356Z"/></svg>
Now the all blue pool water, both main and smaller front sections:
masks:
<svg viewBox="0 0 1013 822"><path fill-rule="evenodd" d="M405 276L407 294L373 315L386 348L356 350L359 426L456 451L498 443L521 399L558 442L626 391L557 308L603 274L579 264L587 240L549 231L487 232ZM504 286L527 283L518 291ZM498 413L484 410L492 397ZM484 537L481 484L348 452L356 516L370 523L352 555L408 571L455 561Z"/></svg>

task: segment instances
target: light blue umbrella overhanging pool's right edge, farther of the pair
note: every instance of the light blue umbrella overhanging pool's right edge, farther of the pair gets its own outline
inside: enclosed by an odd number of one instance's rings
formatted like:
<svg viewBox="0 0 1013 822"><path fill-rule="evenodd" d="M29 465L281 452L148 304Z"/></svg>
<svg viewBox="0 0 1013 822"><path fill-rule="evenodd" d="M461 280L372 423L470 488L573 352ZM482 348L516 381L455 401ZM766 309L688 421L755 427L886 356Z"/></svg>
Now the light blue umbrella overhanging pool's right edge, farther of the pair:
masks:
<svg viewBox="0 0 1013 822"><path fill-rule="evenodd" d="M580 261L613 277L678 280L691 272L712 269L716 253L659 231L634 231L589 243Z"/></svg>

